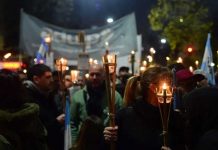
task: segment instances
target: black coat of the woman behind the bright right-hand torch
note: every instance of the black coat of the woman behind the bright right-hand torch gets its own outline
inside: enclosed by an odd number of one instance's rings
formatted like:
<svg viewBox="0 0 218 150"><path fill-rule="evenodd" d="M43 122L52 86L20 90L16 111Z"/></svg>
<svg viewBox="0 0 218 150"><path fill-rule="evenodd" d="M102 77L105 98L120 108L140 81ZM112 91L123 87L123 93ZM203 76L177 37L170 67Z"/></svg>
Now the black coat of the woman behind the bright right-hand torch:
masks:
<svg viewBox="0 0 218 150"><path fill-rule="evenodd" d="M117 114L119 150L160 150L163 146L162 121L158 107L142 99ZM170 112L168 143L171 149L184 150L182 119ZM179 126L178 126L179 125Z"/></svg>

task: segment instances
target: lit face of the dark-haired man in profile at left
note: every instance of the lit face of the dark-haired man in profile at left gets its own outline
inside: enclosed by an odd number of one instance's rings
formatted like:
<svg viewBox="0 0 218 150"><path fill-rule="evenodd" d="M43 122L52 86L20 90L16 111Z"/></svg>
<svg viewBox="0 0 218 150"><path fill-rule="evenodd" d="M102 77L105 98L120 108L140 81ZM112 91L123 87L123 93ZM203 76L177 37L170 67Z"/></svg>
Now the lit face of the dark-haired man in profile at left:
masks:
<svg viewBox="0 0 218 150"><path fill-rule="evenodd" d="M36 86L42 91L49 91L52 88L52 73L50 71L46 71L42 76L34 76L34 83Z"/></svg>

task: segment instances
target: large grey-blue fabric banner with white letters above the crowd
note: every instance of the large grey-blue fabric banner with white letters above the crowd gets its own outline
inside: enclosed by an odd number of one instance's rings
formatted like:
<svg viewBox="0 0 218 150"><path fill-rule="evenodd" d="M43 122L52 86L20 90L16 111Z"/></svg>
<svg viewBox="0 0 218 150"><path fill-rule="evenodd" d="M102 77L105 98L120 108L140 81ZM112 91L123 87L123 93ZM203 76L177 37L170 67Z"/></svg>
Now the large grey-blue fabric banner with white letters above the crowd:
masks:
<svg viewBox="0 0 218 150"><path fill-rule="evenodd" d="M22 11L19 47L25 54L34 57L41 39L50 35L54 58L65 57L69 60L77 60L83 50L77 36L81 31L86 35L86 52L94 59L101 60L106 43L110 53L116 53L118 57L129 55L133 49L137 50L137 31L133 13L105 26L71 30L48 24Z"/></svg>

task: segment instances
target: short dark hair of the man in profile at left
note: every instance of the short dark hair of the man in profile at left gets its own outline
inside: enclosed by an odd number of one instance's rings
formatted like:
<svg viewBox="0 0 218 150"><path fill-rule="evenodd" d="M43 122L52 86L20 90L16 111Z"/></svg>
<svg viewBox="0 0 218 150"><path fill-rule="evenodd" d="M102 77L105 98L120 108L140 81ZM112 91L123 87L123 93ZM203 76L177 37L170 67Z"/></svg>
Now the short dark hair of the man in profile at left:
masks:
<svg viewBox="0 0 218 150"><path fill-rule="evenodd" d="M36 64L29 68L27 71L27 78L33 80L33 76L42 76L45 72L51 72L51 69L44 64Z"/></svg>

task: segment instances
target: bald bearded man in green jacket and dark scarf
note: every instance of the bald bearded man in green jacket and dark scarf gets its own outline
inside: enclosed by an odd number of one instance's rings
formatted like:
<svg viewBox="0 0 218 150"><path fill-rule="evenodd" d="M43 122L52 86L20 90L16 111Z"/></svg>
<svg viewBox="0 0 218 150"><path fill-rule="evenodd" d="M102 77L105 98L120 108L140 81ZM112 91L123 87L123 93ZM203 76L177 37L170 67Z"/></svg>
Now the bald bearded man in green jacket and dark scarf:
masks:
<svg viewBox="0 0 218 150"><path fill-rule="evenodd" d="M115 93L115 110L122 106L122 98ZM75 143L80 126L88 116L102 119L104 126L108 125L108 105L103 66L93 64L89 68L89 79L83 89L77 91L71 101L72 139Z"/></svg>

